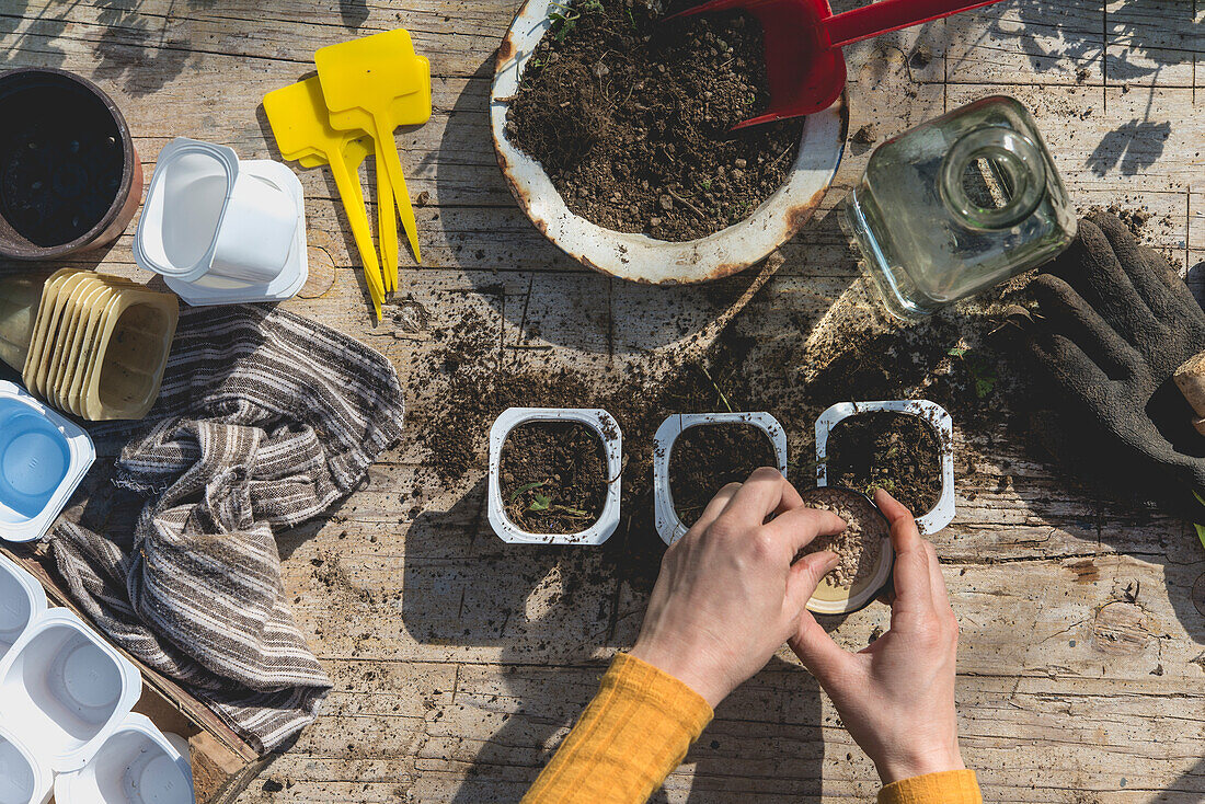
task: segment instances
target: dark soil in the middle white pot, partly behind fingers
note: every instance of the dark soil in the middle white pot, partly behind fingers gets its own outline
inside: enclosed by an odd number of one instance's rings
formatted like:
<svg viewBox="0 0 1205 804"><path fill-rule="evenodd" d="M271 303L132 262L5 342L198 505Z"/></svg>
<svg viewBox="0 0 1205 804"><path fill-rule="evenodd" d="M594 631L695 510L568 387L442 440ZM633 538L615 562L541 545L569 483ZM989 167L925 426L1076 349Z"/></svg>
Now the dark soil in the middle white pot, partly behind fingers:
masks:
<svg viewBox="0 0 1205 804"><path fill-rule="evenodd" d="M774 466L774 444L752 424L699 424L687 429L670 452L674 510L688 528L728 483L742 483L760 466Z"/></svg>

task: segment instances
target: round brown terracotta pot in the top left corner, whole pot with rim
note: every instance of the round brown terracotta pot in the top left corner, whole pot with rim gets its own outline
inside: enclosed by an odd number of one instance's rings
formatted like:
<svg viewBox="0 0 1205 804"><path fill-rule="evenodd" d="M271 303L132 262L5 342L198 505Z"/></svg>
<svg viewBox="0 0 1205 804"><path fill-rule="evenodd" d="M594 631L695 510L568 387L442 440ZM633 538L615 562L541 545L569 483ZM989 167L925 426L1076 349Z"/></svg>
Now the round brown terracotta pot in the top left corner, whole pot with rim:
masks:
<svg viewBox="0 0 1205 804"><path fill-rule="evenodd" d="M142 163L108 95L63 70L12 70L0 119L0 257L54 259L125 230Z"/></svg>

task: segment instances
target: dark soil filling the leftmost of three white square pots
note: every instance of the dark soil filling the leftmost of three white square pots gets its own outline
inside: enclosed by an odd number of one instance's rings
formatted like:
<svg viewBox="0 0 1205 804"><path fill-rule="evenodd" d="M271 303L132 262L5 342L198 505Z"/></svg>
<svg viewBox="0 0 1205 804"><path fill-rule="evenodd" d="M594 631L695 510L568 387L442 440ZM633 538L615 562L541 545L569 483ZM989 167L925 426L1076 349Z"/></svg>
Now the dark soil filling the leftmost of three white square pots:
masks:
<svg viewBox="0 0 1205 804"><path fill-rule="evenodd" d="M606 453L577 422L519 424L502 445L499 480L506 516L528 533L580 533L606 501Z"/></svg>

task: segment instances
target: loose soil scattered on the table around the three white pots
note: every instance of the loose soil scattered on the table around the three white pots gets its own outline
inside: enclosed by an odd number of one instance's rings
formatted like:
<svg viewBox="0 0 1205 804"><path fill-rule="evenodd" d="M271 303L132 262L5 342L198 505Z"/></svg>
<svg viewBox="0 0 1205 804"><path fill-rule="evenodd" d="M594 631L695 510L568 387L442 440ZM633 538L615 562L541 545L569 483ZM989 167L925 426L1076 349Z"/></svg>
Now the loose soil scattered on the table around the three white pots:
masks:
<svg viewBox="0 0 1205 804"><path fill-rule="evenodd" d="M748 276L734 276L689 298L715 315L739 299L748 283ZM797 303L799 295L784 295L790 288L789 281L768 283L715 342L689 359L680 357L680 348L640 356L617 350L615 358L600 362L592 353L566 359L563 350L500 346L493 305L518 309L523 300L505 298L500 283L477 287L475 293L492 301L463 306L442 318L433 313L439 324L430 329L430 352L410 374L407 398L413 401L407 429L423 464L416 488L454 491L464 504L480 506L481 487L466 481L480 483L489 427L499 413L512 406L601 407L623 430L619 528L600 548L599 564L572 547L565 547L558 561L589 565L581 576L565 568L575 585L589 587L618 577L647 593L665 550L653 522L653 435L670 413L769 411L787 432L788 476L800 489L815 485L816 417L839 401L931 399L958 422L965 442L956 459L964 462L978 451L1009 451L1009 445L1027 438L1028 417L1001 404L1023 393L1019 383L1027 376L1006 359L1019 354L1016 345L1005 342L1013 330L1003 325L1003 310L1017 300L1016 292L995 312L968 315L959 306L913 325L882 329L871 312L833 324L834 307L810 312ZM452 304L454 295L437 298ZM851 304L844 300L840 307ZM860 316L874 310L869 304L868 297L852 309ZM582 315L589 319L592 313ZM821 316L830 323L817 328ZM639 313L630 324L640 325ZM816 334L804 335L813 328ZM528 323L525 330L534 333L535 325ZM689 344L689 330L681 334ZM957 357L951 354L954 347Z"/></svg>

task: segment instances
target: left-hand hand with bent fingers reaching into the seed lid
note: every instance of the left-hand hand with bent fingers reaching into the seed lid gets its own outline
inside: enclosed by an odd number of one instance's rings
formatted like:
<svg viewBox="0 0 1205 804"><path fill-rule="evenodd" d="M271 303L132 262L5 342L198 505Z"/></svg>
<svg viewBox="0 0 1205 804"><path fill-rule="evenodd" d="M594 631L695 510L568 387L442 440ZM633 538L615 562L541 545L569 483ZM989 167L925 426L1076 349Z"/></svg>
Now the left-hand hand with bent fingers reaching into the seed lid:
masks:
<svg viewBox="0 0 1205 804"><path fill-rule="evenodd" d="M665 551L631 656L686 682L715 709L806 622L816 624L804 606L836 554L792 561L816 536L842 530L835 513L804 507L775 469L725 486Z"/></svg>

